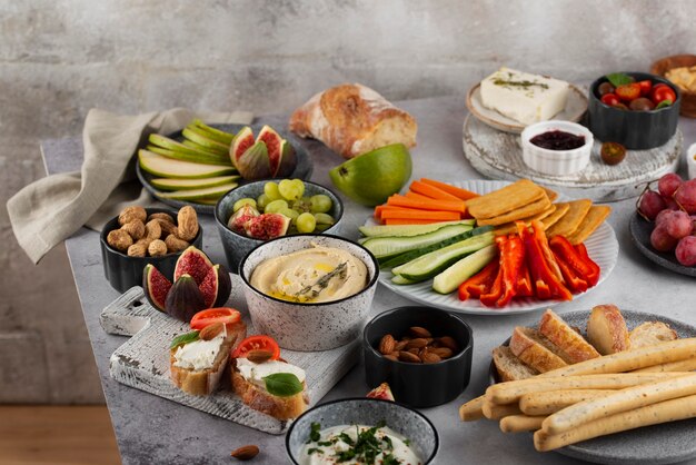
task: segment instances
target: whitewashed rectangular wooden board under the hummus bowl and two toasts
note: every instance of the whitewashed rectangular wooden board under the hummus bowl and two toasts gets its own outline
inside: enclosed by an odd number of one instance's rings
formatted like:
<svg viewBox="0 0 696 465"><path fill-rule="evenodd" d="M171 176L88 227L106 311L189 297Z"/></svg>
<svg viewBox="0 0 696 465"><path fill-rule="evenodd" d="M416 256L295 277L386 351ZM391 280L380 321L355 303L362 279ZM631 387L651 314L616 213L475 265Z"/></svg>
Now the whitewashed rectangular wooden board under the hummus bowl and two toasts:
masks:
<svg viewBox="0 0 696 465"><path fill-rule="evenodd" d="M247 334L255 334L248 315L245 321ZM247 407L230 390L228 376L223 376L222 387L210 396L192 396L177 388L169 378L169 344L190 328L155 309L141 287L128 289L105 307L100 324L109 334L132 336L111 355L109 372L117 382L266 433L286 432L290 422ZM355 340L325 352L284 349L282 357L307 373L307 394L314 405L356 364L359 343Z"/></svg>

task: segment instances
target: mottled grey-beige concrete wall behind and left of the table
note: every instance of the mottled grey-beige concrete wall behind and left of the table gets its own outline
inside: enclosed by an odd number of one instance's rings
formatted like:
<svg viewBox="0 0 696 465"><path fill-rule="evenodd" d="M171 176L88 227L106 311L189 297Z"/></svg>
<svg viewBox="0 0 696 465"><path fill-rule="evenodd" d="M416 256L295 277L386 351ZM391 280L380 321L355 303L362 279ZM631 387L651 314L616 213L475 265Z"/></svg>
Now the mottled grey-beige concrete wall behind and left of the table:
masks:
<svg viewBox="0 0 696 465"><path fill-rule="evenodd" d="M92 107L282 112L344 81L463 95L501 65L589 80L696 52L695 17L690 0L0 0L0 201ZM33 267L4 208L0 241L0 403L101 402L64 249Z"/></svg>

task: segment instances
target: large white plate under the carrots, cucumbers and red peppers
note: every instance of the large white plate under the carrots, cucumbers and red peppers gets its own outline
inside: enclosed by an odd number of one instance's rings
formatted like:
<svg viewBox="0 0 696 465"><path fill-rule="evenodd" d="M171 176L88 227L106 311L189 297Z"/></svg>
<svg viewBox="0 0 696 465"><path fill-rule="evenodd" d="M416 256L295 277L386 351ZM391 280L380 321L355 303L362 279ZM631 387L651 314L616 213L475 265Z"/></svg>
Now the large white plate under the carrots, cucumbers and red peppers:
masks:
<svg viewBox="0 0 696 465"><path fill-rule="evenodd" d="M494 190L500 189L510 182L507 181L488 181L488 180L469 180L461 182L450 182L453 186L460 187L463 189L471 190L478 194L488 194ZM566 200L563 196L559 196L558 200ZM367 224L375 225L376 222L370 218ZM574 299L581 298L593 289L600 286L601 283L609 276L616 260L618 258L618 241L614 229L608 222L604 221L593 234L585 240L587 253L590 258L595 260L601 274L599 275L599 281L595 287L590 287L587 291L581 294L575 294ZM554 305L563 304L563 300L540 300L537 298L525 297L514 298L510 304L503 308L486 307L478 299L468 299L465 301L459 300L457 293L443 295L432 290L432 279L428 279L422 283L411 285L397 286L391 283L391 273L381 271L379 274L379 281L387 288L394 290L396 294L406 297L407 299L417 301L424 305L430 305L432 307L443 308L445 310L451 310L460 314L468 315L510 315L521 314L527 311L534 311L541 308L549 308Z"/></svg>

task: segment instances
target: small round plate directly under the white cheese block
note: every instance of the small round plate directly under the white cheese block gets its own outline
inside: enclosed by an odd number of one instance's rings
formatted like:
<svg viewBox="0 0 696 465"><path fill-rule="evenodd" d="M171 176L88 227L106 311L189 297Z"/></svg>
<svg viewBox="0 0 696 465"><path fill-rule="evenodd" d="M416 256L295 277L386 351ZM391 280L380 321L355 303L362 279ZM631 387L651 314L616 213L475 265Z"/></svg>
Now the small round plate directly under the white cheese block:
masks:
<svg viewBox="0 0 696 465"><path fill-rule="evenodd" d="M484 103L481 102L480 82L469 89L469 92L467 93L467 108L471 115L491 128L513 133L520 133L523 129L525 129L525 125L521 122L503 116L496 110L484 107ZM587 97L585 96L585 92L570 85L566 108L553 119L577 122L583 118L585 111L587 111Z"/></svg>

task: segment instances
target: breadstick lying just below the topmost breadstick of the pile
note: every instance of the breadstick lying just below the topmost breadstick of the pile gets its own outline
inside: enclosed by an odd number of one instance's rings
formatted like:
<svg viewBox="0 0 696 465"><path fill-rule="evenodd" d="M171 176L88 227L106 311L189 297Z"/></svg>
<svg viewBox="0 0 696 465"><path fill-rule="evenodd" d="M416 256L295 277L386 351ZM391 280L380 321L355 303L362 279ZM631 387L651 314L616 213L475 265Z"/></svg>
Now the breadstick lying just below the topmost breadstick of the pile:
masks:
<svg viewBox="0 0 696 465"><path fill-rule="evenodd" d="M615 373L606 375L566 376L558 378L520 379L498 383L486 389L486 398L496 404L511 404L529 393L544 393L558 389L620 389L637 384L650 383L689 375L690 373Z"/></svg>

